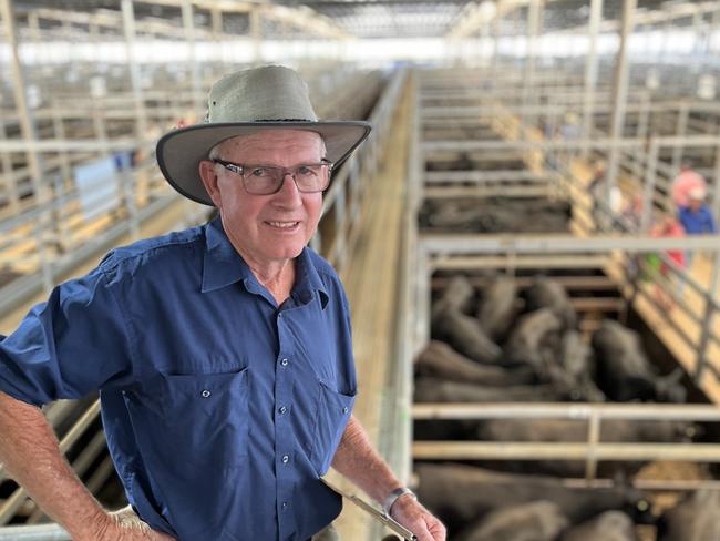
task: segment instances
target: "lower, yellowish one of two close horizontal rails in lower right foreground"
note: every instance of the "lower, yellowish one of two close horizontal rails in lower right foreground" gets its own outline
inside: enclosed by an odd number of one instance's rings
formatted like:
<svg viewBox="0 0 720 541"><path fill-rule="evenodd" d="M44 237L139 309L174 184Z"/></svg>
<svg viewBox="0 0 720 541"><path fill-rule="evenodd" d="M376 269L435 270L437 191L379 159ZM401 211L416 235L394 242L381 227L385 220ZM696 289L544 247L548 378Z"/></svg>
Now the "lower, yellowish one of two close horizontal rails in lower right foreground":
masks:
<svg viewBox="0 0 720 541"><path fill-rule="evenodd" d="M720 462L717 443L572 443L503 441L415 441L414 459L421 460L669 460Z"/></svg>

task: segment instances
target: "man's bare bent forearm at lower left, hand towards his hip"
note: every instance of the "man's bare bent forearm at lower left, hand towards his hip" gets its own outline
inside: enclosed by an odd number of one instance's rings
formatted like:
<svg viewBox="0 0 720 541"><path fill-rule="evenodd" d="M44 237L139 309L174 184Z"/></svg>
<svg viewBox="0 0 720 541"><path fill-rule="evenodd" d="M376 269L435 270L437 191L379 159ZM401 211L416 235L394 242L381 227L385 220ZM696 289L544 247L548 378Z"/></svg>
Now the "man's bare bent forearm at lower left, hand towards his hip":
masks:
<svg viewBox="0 0 720 541"><path fill-rule="evenodd" d="M0 391L0 461L40 508L75 541L169 540L147 528L128 528L107 513L60 452L42 411Z"/></svg>

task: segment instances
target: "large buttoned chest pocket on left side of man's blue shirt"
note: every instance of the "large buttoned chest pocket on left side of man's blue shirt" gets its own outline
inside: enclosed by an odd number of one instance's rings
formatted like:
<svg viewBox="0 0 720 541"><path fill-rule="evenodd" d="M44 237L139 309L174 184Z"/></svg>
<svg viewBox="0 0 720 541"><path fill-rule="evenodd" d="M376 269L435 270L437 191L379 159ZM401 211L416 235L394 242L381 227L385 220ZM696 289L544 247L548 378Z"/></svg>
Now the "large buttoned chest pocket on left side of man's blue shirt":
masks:
<svg viewBox="0 0 720 541"><path fill-rule="evenodd" d="M162 375L128 400L148 463L176 457L188 466L234 468L248 451L248 370ZM162 466L161 466L162 467Z"/></svg>

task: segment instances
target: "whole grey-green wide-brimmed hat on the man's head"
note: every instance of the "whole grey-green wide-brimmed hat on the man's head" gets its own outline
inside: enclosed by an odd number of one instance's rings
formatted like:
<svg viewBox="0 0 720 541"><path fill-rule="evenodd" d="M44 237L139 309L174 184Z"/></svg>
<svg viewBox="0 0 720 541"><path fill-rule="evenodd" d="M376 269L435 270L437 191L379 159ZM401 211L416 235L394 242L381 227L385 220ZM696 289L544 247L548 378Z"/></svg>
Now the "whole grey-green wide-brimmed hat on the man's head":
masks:
<svg viewBox="0 0 720 541"><path fill-rule="evenodd" d="M185 197L213 205L199 176L199 163L225 140L267 130L320 134L326 157L343 162L370 133L362 121L320 121L300 75L281 65L238 71L217 81L200 124L174 130L157 142L156 157L167 182Z"/></svg>

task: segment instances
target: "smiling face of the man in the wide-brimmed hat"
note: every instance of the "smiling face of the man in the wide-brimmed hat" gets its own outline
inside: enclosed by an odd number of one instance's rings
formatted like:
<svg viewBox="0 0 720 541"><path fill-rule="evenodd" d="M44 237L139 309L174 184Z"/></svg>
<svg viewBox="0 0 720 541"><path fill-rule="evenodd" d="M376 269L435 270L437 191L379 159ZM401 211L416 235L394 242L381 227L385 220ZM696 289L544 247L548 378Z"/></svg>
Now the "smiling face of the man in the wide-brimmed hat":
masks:
<svg viewBox="0 0 720 541"><path fill-rule="evenodd" d="M319 134L277 130L228 140L218 157L243 165L290 167L318 163L323 153ZM247 193L239 175L212 162L200 163L200 176L230 242L248 263L266 265L297 257L315 234L322 193L299 192L290 175L271 195Z"/></svg>

